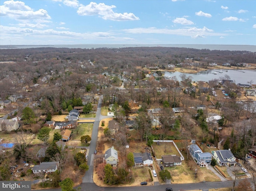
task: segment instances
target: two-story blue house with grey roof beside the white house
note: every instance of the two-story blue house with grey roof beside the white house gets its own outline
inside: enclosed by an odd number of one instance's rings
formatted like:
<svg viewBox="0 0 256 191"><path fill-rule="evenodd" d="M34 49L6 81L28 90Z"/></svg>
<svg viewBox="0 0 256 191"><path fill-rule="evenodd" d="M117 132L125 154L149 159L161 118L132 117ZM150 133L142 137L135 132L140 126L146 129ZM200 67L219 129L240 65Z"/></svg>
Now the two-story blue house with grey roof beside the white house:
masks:
<svg viewBox="0 0 256 191"><path fill-rule="evenodd" d="M191 157L196 161L200 167L207 167L212 161L212 155L208 152L204 153L198 145L192 144L188 146Z"/></svg>

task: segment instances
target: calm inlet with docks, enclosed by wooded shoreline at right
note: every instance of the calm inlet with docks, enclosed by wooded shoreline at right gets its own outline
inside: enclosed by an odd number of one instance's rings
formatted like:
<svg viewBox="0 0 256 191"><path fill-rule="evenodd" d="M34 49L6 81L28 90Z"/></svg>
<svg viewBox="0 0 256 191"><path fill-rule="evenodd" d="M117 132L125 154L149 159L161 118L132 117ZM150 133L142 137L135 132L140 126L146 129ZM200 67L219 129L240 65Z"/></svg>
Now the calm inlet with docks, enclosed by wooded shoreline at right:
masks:
<svg viewBox="0 0 256 191"><path fill-rule="evenodd" d="M234 83L238 84L248 84L248 81L254 81L253 84L256 83L256 70L208 70L204 72L198 72L194 74L185 73L187 76L192 77L192 81L206 81L212 79L220 79L220 77L224 77L228 75L230 80L233 80ZM243 72L244 71L244 72ZM217 73L217 74L214 74ZM173 77L176 76L178 81L180 81L180 74L184 74L181 72L164 72L164 77Z"/></svg>

